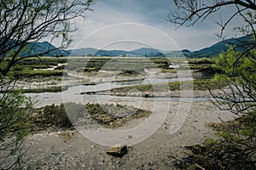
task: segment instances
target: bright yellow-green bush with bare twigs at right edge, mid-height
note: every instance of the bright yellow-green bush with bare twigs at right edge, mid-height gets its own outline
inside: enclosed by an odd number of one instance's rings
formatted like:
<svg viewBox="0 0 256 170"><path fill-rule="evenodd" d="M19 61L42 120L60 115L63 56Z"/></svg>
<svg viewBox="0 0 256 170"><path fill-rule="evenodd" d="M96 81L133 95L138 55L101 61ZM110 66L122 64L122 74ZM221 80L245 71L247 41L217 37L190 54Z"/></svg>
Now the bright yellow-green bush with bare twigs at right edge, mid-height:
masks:
<svg viewBox="0 0 256 170"><path fill-rule="evenodd" d="M221 92L212 93L212 101L220 110L236 114L250 114L256 109L256 50L243 54L230 49L228 54L220 54L215 67L222 74L215 75L216 81L231 82L222 87ZM225 102L223 102L225 101Z"/></svg>

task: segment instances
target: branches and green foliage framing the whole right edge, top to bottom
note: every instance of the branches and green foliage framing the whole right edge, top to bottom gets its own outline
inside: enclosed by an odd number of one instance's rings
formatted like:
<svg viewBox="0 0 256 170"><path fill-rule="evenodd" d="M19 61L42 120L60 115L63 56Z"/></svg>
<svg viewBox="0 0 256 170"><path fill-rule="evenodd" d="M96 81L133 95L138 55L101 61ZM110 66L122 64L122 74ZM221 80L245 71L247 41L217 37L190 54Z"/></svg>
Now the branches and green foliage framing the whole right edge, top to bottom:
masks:
<svg viewBox="0 0 256 170"><path fill-rule="evenodd" d="M233 6L236 10L227 20L219 19L219 37L237 17L243 21L236 26L244 38L234 38L230 49L215 58L214 67L220 71L215 75L219 85L213 92L212 103L220 110L231 111L240 117L233 122L223 122L213 127L218 130L219 139L208 139L204 145L190 146L191 153L183 160L177 160L177 167L184 169L255 169L256 167L256 1L252 0L174 0L180 9L167 17L178 26L193 26L207 20L221 8Z"/></svg>

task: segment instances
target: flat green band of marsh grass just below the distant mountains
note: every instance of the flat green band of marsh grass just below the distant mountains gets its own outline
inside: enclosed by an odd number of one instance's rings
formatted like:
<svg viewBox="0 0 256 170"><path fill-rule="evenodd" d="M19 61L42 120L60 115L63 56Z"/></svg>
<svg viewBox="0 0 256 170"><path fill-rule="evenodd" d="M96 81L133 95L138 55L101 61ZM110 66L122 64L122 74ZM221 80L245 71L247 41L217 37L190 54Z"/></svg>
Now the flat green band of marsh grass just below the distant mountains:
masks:
<svg viewBox="0 0 256 170"><path fill-rule="evenodd" d="M213 71L213 59L188 59L189 68L195 71ZM19 65L15 65L10 76L15 77L61 77L64 68L73 71L136 71L143 72L144 69L159 68L162 72L176 73L175 69L169 68L173 63L180 63L183 59L179 58L114 58L114 57L80 57L80 58L55 58L40 57L40 59L24 59ZM67 63L66 63L67 62ZM66 63L67 65L57 66ZM71 65L68 65L71 64ZM54 71L40 71L57 66ZM36 70L39 69L39 70ZM64 73L65 74L65 73ZM133 76L130 74L128 76ZM127 75L126 75L127 76Z"/></svg>

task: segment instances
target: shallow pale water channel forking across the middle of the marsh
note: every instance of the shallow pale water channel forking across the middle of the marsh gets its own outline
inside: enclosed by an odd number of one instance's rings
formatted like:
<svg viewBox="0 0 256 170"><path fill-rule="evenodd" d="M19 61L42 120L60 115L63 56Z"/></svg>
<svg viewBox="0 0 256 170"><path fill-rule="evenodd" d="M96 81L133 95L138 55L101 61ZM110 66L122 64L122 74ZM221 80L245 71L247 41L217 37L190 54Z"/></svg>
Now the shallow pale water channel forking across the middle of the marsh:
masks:
<svg viewBox="0 0 256 170"><path fill-rule="evenodd" d="M140 84L154 84L154 83L167 83L167 82L179 82L192 80L190 77L173 78L173 79L144 79L137 81L126 82L103 82L96 85L78 85L67 88L67 90L59 93L39 93L39 94L26 94L32 98L35 103L35 107L42 107L44 105L60 105L63 102L75 102L75 103L88 103L97 101L99 103L109 103L114 100L125 101L182 101L182 102L195 102L204 101L206 98L171 98L171 97L149 97L143 96L114 96L108 94L85 94L86 92L96 92L110 90L111 88L121 88L131 85ZM81 94L84 93L84 94Z"/></svg>

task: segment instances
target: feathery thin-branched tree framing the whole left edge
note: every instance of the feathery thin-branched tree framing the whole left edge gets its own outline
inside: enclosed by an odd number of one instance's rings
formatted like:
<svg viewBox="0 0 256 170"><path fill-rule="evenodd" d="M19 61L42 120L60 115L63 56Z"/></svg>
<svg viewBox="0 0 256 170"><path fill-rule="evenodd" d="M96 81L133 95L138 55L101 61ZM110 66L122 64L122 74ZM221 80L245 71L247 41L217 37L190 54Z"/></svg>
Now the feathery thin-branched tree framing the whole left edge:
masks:
<svg viewBox="0 0 256 170"><path fill-rule="evenodd" d="M94 0L0 0L0 169L22 168L22 141L27 134L29 99L17 91L9 73L21 59L37 57L36 42L58 41L67 48L76 19ZM55 50L49 46L44 53ZM21 56L22 52L26 56ZM40 54L37 54L40 55Z"/></svg>

